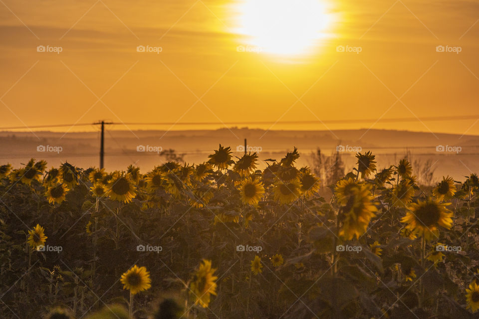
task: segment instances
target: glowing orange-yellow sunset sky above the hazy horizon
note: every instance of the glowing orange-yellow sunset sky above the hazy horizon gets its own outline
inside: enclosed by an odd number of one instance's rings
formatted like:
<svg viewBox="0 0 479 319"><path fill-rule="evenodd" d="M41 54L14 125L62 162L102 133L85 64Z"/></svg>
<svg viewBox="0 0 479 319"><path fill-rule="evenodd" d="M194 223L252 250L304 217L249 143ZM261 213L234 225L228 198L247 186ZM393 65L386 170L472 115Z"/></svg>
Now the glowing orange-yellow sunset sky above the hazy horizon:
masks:
<svg viewBox="0 0 479 319"><path fill-rule="evenodd" d="M0 0L0 128L479 135L478 21L468 0ZM176 124L129 124L152 122Z"/></svg>

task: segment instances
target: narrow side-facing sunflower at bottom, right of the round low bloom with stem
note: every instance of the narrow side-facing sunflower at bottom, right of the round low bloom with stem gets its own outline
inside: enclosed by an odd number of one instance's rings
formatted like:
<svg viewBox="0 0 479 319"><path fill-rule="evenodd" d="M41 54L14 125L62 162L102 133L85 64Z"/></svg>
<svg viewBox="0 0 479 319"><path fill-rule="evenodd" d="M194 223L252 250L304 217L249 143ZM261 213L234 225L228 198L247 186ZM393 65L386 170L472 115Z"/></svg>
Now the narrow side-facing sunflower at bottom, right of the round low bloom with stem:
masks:
<svg viewBox="0 0 479 319"><path fill-rule="evenodd" d="M195 305L207 308L210 305L210 296L216 296L216 280L214 275L216 269L211 268L211 261L203 259L203 263L195 272L190 284L190 296L195 301Z"/></svg>

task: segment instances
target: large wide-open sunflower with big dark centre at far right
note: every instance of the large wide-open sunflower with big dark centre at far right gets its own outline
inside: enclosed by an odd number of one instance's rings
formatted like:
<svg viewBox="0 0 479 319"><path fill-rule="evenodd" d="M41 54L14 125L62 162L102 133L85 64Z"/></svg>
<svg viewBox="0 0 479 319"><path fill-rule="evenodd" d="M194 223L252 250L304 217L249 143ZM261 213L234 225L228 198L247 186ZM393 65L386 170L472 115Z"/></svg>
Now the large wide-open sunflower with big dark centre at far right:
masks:
<svg viewBox="0 0 479 319"><path fill-rule="evenodd" d="M448 203L439 203L437 199L428 198L425 201L411 204L409 212L401 219L413 233L431 238L438 236L439 227L452 227L453 213L447 209Z"/></svg>

